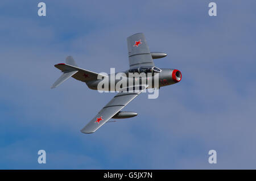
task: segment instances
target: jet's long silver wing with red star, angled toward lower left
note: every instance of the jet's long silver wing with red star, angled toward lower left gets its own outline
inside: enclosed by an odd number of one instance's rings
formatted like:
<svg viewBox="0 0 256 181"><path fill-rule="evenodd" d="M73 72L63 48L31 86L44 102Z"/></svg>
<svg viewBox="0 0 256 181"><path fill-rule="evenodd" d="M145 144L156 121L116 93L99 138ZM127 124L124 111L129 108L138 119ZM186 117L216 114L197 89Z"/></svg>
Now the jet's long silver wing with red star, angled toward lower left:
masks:
<svg viewBox="0 0 256 181"><path fill-rule="evenodd" d="M81 129L82 133L93 133L100 128L104 123L111 119L116 113L122 110L128 103L136 98L147 86L133 87L133 90L137 91L126 91L127 88L119 91L112 100L98 114Z"/></svg>

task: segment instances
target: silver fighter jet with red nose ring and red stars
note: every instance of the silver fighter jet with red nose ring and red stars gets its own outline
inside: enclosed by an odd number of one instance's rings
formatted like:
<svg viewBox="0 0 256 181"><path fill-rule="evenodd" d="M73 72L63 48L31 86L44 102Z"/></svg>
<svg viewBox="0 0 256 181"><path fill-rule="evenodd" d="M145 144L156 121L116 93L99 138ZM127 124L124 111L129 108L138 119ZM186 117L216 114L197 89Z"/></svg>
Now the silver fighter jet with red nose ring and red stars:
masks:
<svg viewBox="0 0 256 181"><path fill-rule="evenodd" d="M51 88L55 88L67 80L69 77L73 77L79 81L85 82L86 85L93 90L106 90L118 91L118 94L114 96L112 100L106 106L104 106L100 112L97 113L93 119L81 129L82 133L93 133L100 128L106 122L112 122L110 119L123 119L137 116L135 112L121 111L128 103L135 97L141 94L148 88L160 89L160 87L172 85L181 81L181 72L176 69L159 69L155 66L153 59L166 57L166 53L162 52L150 52L146 39L143 33L136 33L127 37L127 47L129 54L130 69L127 70L125 75L130 73L151 73L151 77L146 77L146 83L139 78L139 83L136 85L134 77L123 77L127 79L127 82L133 82L130 84L116 88L120 78L116 78L114 75L114 86L111 86L110 79L112 74L98 74L93 71L81 69L76 65L76 62L71 56L66 58L65 64L54 65L57 69L60 69L63 74ZM154 76L158 75L157 84L154 83ZM110 82L108 87L99 88L99 84L108 79ZM151 79L151 81L148 81ZM154 79L154 81L152 81ZM143 83L144 82L144 83ZM153 83L152 83L153 82ZM158 85L158 86L156 86ZM129 91L128 91L129 89ZM132 90L132 91L130 91ZM136 91L135 91L136 90Z"/></svg>

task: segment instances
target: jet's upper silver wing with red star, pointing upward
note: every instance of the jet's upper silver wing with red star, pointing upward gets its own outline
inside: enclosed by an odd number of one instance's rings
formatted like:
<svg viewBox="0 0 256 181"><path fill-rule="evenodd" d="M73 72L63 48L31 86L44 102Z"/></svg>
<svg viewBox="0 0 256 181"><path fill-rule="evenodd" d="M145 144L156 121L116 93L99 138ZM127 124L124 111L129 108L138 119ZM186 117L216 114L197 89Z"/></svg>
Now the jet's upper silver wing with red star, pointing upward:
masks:
<svg viewBox="0 0 256 181"><path fill-rule="evenodd" d="M136 33L127 37L127 47L130 69L155 66L143 33Z"/></svg>

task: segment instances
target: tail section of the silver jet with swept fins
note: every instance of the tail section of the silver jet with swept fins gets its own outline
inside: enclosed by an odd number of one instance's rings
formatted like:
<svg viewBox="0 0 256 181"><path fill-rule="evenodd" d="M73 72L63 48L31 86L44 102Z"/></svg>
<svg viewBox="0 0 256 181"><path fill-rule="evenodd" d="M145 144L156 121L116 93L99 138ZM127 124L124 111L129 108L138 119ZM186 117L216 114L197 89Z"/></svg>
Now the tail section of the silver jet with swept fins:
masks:
<svg viewBox="0 0 256 181"><path fill-rule="evenodd" d="M71 56L68 56L66 58L66 64L56 64L54 66L57 69L60 69L63 72L63 74L60 76L59 79L57 79L55 83L53 83L51 88L55 88L59 86L69 77L73 77L85 83L89 81L96 81L98 75L101 75L102 77L106 77L106 75L102 75L102 74L95 73L93 71L78 68L75 60Z"/></svg>

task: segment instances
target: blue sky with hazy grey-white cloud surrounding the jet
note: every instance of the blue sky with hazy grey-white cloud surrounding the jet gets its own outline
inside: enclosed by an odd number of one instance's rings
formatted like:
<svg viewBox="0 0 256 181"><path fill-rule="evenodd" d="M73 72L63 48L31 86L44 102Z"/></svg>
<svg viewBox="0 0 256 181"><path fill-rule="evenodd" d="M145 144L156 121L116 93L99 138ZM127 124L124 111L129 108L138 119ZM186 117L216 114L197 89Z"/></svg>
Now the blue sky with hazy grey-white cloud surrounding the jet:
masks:
<svg viewBox="0 0 256 181"><path fill-rule="evenodd" d="M43 1L46 17L39 2L0 2L0 169L256 169L255 1L213 1L216 17L211 1ZM82 134L115 94L75 79L52 90L53 65L72 55L84 69L127 70L137 32L183 79L134 99L125 110L138 116Z"/></svg>

